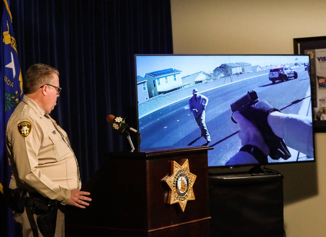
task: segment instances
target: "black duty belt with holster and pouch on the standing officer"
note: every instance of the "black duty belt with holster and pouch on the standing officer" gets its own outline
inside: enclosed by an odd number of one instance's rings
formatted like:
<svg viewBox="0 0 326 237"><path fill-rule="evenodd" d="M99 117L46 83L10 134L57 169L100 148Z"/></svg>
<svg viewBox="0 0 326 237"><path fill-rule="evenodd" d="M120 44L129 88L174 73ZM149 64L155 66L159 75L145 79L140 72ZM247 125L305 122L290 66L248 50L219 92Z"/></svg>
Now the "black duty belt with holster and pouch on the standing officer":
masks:
<svg viewBox="0 0 326 237"><path fill-rule="evenodd" d="M22 188L7 189L6 199L8 205L17 213L23 213L25 207L32 207L37 215L37 226L44 237L53 237L57 220L58 204L39 193L29 193Z"/></svg>

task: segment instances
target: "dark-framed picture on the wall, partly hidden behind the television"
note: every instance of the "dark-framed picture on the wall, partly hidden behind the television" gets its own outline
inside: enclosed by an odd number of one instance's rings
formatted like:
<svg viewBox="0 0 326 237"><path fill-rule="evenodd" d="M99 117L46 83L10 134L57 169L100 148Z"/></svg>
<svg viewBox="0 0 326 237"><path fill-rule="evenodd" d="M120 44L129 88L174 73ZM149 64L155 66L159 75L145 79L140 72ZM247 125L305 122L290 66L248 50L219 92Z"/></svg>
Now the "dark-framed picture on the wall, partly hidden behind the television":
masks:
<svg viewBox="0 0 326 237"><path fill-rule="evenodd" d="M294 54L309 54L314 132L326 132L326 36L294 38Z"/></svg>

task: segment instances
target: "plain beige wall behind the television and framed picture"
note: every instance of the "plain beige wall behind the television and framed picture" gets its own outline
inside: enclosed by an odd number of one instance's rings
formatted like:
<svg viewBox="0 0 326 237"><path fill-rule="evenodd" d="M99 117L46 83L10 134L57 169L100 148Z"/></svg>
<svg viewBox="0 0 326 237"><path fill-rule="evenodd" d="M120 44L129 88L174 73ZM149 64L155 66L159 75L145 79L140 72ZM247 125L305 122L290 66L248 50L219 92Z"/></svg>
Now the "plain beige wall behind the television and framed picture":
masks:
<svg viewBox="0 0 326 237"><path fill-rule="evenodd" d="M326 1L171 0L174 53L291 54L293 38L324 36ZM326 134L316 163L270 166L284 175L287 237L326 236Z"/></svg>

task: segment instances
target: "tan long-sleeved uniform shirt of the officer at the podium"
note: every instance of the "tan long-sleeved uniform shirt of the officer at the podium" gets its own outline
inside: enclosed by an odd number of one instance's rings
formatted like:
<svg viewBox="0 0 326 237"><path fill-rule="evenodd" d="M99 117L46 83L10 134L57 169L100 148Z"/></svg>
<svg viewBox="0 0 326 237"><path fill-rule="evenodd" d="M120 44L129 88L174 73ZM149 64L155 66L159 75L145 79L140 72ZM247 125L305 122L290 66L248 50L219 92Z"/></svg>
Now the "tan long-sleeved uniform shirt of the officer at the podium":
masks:
<svg viewBox="0 0 326 237"><path fill-rule="evenodd" d="M32 128L19 130L22 121L30 122ZM67 133L26 95L9 118L6 146L12 170L9 188L36 190L62 204L70 200L71 189L81 188Z"/></svg>

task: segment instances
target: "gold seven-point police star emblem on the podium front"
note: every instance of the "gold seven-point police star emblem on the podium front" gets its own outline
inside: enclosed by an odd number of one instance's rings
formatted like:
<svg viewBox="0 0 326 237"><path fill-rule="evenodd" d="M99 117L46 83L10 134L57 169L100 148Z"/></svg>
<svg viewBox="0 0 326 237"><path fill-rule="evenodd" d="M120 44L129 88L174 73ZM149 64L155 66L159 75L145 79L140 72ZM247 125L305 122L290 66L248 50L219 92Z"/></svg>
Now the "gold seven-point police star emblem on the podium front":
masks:
<svg viewBox="0 0 326 237"><path fill-rule="evenodd" d="M195 183L196 175L190 173L188 159L181 161L179 165L171 161L171 176L166 178L166 183L171 188L169 191L168 203L179 202L183 212L189 200L195 200L195 194L192 186Z"/></svg>

